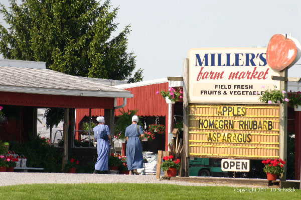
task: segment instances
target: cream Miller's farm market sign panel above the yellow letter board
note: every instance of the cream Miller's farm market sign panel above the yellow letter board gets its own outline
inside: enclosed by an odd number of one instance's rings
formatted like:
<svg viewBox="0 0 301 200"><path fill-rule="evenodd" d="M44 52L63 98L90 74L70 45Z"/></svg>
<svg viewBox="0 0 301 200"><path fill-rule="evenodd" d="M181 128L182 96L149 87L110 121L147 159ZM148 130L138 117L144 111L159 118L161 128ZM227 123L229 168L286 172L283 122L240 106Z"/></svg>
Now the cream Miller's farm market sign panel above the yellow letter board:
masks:
<svg viewBox="0 0 301 200"><path fill-rule="evenodd" d="M259 103L257 94L279 88L266 48L192 48L188 56L191 103Z"/></svg>

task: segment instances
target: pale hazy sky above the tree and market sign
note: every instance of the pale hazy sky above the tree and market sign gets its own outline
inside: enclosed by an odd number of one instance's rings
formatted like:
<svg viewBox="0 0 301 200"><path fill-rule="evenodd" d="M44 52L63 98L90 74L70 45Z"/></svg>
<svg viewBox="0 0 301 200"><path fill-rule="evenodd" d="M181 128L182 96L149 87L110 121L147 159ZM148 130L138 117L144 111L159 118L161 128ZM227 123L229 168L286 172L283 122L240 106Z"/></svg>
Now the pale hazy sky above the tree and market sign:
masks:
<svg viewBox="0 0 301 200"><path fill-rule="evenodd" d="M8 0L0 0L8 5ZM110 0L143 80L183 75L191 48L266 47L276 33L301 42L301 0ZM2 22L2 18L0 18ZM301 77L301 60L288 70Z"/></svg>

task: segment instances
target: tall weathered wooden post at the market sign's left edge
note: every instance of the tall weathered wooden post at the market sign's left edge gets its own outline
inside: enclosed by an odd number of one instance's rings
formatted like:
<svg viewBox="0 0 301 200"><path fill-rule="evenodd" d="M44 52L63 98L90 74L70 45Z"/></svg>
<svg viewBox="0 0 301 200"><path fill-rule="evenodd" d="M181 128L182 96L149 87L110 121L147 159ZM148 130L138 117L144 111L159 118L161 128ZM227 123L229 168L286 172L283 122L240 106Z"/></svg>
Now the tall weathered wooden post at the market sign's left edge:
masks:
<svg viewBox="0 0 301 200"><path fill-rule="evenodd" d="M182 176L189 176L189 59L183 60L183 162Z"/></svg>

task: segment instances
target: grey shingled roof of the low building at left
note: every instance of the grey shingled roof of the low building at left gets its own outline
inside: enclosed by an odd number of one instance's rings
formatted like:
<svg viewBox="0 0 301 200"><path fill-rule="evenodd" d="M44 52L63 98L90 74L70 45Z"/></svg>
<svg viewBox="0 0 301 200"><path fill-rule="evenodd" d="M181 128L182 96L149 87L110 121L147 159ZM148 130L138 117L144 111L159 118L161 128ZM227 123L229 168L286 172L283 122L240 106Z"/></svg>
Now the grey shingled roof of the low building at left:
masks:
<svg viewBox="0 0 301 200"><path fill-rule="evenodd" d="M130 91L94 78L68 75L50 69L0 66L0 91L71 96L133 97Z"/></svg>

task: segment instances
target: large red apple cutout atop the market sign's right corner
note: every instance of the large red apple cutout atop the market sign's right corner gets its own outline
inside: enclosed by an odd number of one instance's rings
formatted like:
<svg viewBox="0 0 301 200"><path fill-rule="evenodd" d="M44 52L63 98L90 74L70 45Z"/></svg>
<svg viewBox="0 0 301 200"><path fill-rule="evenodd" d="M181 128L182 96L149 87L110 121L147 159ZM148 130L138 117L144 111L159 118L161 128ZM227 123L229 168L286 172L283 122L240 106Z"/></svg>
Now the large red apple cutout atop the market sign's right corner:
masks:
<svg viewBox="0 0 301 200"><path fill-rule="evenodd" d="M291 67L301 55L301 45L295 38L287 34L274 34L267 45L267 64L281 71L285 67Z"/></svg>

